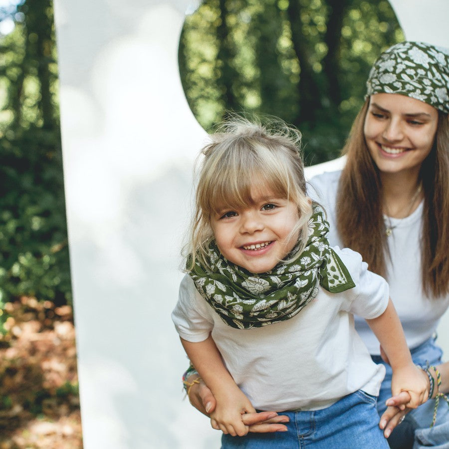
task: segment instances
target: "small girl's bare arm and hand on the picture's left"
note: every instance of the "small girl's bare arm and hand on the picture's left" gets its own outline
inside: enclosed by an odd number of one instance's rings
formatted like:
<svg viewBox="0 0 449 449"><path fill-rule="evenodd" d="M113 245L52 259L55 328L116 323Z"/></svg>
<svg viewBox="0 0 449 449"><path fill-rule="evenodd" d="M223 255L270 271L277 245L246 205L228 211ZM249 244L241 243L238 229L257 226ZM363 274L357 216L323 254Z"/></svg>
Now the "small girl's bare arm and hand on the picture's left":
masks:
<svg viewBox="0 0 449 449"><path fill-rule="evenodd" d="M233 437L246 435L248 426L243 424L241 415L255 410L227 371L212 336L199 343L182 338L181 342L217 401L216 409L210 414L212 427Z"/></svg>

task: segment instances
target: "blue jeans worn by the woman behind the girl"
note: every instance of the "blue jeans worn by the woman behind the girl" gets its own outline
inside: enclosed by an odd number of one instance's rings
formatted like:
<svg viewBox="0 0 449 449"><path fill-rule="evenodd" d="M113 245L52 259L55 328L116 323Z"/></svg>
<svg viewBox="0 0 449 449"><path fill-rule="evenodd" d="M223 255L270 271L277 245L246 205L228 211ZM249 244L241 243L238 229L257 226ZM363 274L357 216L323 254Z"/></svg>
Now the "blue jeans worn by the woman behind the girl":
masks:
<svg viewBox="0 0 449 449"><path fill-rule="evenodd" d="M417 365L439 365L442 363L442 350L435 344L435 338L430 338L423 344L410 351L413 362ZM385 401L391 397L391 367L385 364L380 356L372 356L375 363L385 365L386 374L382 382L378 398L377 410L381 416L385 410ZM449 449L449 407L446 401L440 399L437 421L430 429L434 415L435 399L427 401L422 406L412 410L391 434L388 439L392 449L421 449L446 448Z"/></svg>

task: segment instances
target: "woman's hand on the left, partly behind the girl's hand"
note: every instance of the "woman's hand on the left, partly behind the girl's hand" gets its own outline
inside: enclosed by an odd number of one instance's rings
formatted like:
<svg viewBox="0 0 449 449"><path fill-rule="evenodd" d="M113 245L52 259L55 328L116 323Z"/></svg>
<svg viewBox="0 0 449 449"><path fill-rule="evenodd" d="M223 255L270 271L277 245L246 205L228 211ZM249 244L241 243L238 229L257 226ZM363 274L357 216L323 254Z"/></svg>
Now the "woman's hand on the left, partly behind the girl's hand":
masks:
<svg viewBox="0 0 449 449"><path fill-rule="evenodd" d="M199 379L199 383L189 389L190 403L203 415L209 416L215 410L217 401L198 374L193 374L187 381L192 383L196 379ZM282 423L289 421L287 416L277 415L276 412L245 413L241 418L249 432L253 433L285 432L287 427Z"/></svg>

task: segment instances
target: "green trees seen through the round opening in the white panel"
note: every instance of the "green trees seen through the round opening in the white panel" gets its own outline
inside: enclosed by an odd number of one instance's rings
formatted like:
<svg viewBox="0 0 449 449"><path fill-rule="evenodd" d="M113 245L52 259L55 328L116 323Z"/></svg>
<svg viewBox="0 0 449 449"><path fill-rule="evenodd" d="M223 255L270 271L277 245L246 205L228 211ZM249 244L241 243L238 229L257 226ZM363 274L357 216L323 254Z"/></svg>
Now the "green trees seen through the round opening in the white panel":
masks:
<svg viewBox="0 0 449 449"><path fill-rule="evenodd" d="M402 40L387 0L205 0L184 23L181 79L205 129L226 110L279 116L316 164L339 154L372 63Z"/></svg>

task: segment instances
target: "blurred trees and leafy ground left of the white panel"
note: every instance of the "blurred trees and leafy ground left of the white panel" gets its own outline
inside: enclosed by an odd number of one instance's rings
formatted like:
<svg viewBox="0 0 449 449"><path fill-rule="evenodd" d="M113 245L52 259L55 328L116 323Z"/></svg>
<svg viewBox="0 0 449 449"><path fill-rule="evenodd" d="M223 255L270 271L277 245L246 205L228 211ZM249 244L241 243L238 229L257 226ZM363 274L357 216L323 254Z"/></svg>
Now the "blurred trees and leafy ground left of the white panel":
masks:
<svg viewBox="0 0 449 449"><path fill-rule="evenodd" d="M82 448L50 0L0 0L0 448Z"/></svg>

